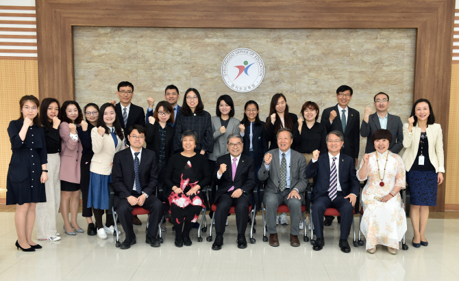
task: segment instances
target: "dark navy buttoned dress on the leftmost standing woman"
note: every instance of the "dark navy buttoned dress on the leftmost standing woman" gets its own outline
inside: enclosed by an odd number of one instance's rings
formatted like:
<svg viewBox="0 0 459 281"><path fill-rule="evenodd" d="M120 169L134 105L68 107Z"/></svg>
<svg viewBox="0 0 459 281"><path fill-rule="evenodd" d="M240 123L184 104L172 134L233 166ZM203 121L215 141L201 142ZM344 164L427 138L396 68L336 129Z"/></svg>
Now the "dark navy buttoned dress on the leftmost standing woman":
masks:
<svg viewBox="0 0 459 281"><path fill-rule="evenodd" d="M13 120L8 126L11 161L6 177L6 204L46 202L45 183L40 183L42 164L48 163L45 133L42 126L32 125L25 139L19 137L24 120Z"/></svg>

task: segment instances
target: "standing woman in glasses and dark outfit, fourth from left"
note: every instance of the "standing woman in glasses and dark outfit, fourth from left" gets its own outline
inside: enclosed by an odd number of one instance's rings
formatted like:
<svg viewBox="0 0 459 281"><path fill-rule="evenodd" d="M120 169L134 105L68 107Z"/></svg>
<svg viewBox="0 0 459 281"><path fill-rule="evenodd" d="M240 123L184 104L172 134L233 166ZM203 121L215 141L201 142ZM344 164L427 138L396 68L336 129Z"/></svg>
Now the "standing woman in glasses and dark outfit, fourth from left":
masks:
<svg viewBox="0 0 459 281"><path fill-rule="evenodd" d="M88 222L88 235L94 236L97 235L97 230L92 222L92 209L88 208L88 189L89 167L91 165L92 155L94 155L94 152L92 152L91 130L97 126L99 106L95 103L88 103L84 107L84 115L86 116L86 122L82 121L82 126L77 127L78 137L82 141L83 146L82 161L80 163L82 175L79 180L79 186L82 189L82 216L86 217L86 222Z"/></svg>

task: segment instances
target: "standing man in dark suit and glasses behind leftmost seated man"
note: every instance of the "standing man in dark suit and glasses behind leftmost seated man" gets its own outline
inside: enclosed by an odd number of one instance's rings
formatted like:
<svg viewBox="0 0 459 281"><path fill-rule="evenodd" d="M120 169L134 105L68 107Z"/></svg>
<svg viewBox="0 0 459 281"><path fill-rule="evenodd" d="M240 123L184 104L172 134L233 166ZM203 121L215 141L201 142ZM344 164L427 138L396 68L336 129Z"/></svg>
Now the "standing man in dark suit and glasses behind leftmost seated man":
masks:
<svg viewBox="0 0 459 281"><path fill-rule="evenodd" d="M116 95L119 97L119 103L111 101L116 107L116 118L120 121L121 128L124 131L125 144L129 146L129 139L127 139L127 129L132 125L145 126L145 111L142 107L131 103L134 96L134 85L128 81L123 81L118 84L118 92ZM103 114L103 113L101 113ZM136 215L134 215L133 223L136 226L141 226L142 222Z"/></svg>

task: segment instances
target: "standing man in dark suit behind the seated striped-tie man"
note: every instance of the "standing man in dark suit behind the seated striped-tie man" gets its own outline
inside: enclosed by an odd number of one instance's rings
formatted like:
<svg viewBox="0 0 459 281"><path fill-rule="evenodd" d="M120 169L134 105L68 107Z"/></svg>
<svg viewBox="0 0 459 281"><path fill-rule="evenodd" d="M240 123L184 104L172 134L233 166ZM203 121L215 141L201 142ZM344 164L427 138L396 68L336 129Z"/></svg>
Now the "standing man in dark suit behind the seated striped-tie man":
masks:
<svg viewBox="0 0 459 281"><path fill-rule="evenodd" d="M327 129L327 133L331 131L339 131L344 135L345 145L342 152L349 155L358 164L358 152L360 150L360 113L347 105L352 98L352 88L347 85L341 85L336 89L336 98L338 104L334 107L325 109L322 113L321 124ZM325 226L331 226L333 216L326 216ZM338 222L340 222L338 217Z"/></svg>

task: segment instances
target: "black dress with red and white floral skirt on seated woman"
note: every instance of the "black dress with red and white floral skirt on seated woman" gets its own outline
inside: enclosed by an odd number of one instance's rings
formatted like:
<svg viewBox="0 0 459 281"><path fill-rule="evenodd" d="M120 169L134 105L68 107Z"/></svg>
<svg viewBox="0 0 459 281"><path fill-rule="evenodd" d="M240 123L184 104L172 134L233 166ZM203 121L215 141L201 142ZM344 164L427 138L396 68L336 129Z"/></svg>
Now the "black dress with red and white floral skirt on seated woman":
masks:
<svg viewBox="0 0 459 281"><path fill-rule="evenodd" d="M204 207L204 194L202 188L210 184L212 171L204 155L197 153L193 157L184 157L178 153L173 155L167 163L164 173L164 184L169 190L169 204L171 205L171 222L180 225L186 222L197 222L199 213ZM187 196L191 188L199 185L201 189L196 195ZM182 189L183 193L177 194L172 187Z"/></svg>

